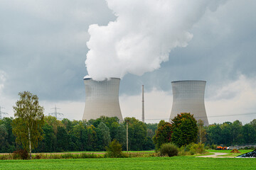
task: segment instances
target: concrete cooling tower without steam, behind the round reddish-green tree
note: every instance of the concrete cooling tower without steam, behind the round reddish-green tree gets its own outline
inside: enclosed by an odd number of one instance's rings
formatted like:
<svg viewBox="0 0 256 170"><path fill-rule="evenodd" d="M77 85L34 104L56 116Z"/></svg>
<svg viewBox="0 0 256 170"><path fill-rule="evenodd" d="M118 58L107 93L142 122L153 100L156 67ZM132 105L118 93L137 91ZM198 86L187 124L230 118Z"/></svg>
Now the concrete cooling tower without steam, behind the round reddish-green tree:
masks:
<svg viewBox="0 0 256 170"><path fill-rule="evenodd" d="M206 81L172 81L173 106L171 119L179 113L191 113L196 120L203 120L204 125L209 125L204 104Z"/></svg>

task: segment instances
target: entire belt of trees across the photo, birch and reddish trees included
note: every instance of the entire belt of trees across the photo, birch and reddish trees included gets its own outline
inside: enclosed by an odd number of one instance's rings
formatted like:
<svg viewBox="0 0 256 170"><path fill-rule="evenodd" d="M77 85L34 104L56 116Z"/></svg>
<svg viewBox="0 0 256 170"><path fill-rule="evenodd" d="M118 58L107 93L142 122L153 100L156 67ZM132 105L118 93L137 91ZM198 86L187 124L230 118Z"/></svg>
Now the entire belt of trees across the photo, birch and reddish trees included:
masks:
<svg viewBox="0 0 256 170"><path fill-rule="evenodd" d="M43 115L38 97L29 91L18 94L14 118L0 120L0 152L26 149L31 152L104 151L116 140L129 150L158 150L173 142L182 147L192 142L206 145L241 145L256 143L256 119L242 125L239 120L203 126L190 113L176 115L171 123L161 120L147 124L136 118L102 116L96 120L57 120ZM128 128L127 128L128 126Z"/></svg>

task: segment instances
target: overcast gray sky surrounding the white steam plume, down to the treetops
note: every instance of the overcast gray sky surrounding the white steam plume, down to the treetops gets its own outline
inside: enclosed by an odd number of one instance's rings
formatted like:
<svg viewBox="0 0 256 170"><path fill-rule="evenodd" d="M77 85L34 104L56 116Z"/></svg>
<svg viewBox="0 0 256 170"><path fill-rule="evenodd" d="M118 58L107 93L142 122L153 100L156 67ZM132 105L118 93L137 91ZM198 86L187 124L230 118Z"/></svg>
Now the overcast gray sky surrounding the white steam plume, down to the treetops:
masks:
<svg viewBox="0 0 256 170"><path fill-rule="evenodd" d="M169 61L142 76L124 75L119 91L123 117L141 119L144 84L146 122L168 120L171 81L196 79L207 81L209 123L255 119L255 8L255 0L230 0L215 10L206 9L188 29L193 38L186 47L172 48ZM18 92L31 91L46 115L57 105L65 118L81 120L88 28L116 20L104 0L0 0L2 111L14 116Z"/></svg>

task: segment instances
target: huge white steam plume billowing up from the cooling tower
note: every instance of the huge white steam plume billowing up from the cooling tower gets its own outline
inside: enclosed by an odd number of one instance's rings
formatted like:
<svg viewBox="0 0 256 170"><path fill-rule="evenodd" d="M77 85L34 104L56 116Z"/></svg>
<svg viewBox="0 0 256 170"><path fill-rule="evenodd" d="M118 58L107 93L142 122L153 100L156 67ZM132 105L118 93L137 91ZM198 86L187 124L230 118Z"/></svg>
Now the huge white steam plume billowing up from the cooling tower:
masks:
<svg viewBox="0 0 256 170"><path fill-rule="evenodd" d="M106 0L117 16L107 26L90 25L85 61L92 79L142 75L159 69L175 47L186 47L188 31L207 9L225 0Z"/></svg>

